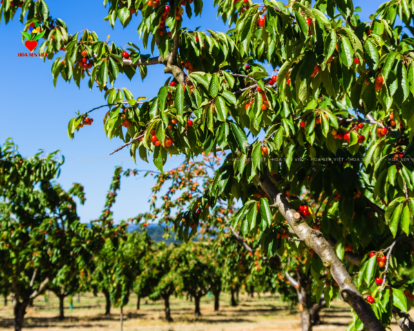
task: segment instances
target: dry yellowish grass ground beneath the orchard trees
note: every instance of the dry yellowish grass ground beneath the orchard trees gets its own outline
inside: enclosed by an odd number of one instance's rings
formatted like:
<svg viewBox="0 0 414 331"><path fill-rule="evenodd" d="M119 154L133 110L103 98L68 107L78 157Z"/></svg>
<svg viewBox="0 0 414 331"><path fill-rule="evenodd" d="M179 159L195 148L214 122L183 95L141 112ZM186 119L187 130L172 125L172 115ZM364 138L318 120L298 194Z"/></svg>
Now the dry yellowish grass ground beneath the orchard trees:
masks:
<svg viewBox="0 0 414 331"><path fill-rule="evenodd" d="M110 317L103 314L105 299L102 295L81 294L80 302L73 298L73 310L70 310L68 299L65 301L66 320L59 321L57 297L50 292L45 298L38 297L34 307L28 308L25 329L41 331L78 330L109 331L119 330L119 309L112 308ZM136 310L137 297L132 294L130 303L124 307L124 330L140 331L299 331L300 317L296 307L290 307L280 301L276 295L262 295L250 298L240 296L237 307L230 306L230 297L222 294L220 311L213 311L213 296L201 299L202 316L195 319L194 303L186 298L172 298L170 308L172 323L164 319L164 305L161 301L141 300L141 309ZM345 331L351 321L346 304L335 301L331 308L322 311L322 325L318 330ZM0 330L12 330L12 304L0 306ZM392 329L400 330L396 324Z"/></svg>

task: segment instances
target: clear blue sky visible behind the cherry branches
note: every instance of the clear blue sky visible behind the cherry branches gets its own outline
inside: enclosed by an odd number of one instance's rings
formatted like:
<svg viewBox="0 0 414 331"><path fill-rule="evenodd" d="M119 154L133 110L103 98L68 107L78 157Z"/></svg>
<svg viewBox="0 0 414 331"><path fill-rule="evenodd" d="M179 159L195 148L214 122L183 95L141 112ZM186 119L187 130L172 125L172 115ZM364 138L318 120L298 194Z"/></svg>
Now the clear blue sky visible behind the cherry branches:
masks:
<svg viewBox="0 0 414 331"><path fill-rule="evenodd" d="M258 2L258 1L255 1ZM354 1L355 6L363 9L359 15L362 20L368 20L369 14L384 1ZM108 10L103 7L103 1L83 0L48 0L50 15L63 19L68 26L68 32L75 34L81 30L97 32L101 40L110 35L110 41L117 46L124 46L133 42L141 48L144 54L150 51L142 48L137 34L140 15L130 25L123 29L119 20L112 30L103 18ZM221 18L217 19L217 11L213 7L213 0L204 0L203 13L200 17L188 20L184 18L182 26L195 29L211 29L226 32ZM21 42L22 24L17 15L13 22L0 24L0 143L12 137L19 146L19 151L25 157L32 156L39 148L46 152L60 150L66 157L58 181L66 190L73 182L81 183L85 187L86 203L79 206L78 212L82 221L90 221L99 217L103 209L105 195L108 191L113 170L117 165L126 168L155 170L152 163L148 164L138 158L137 165L130 161L127 148L109 156L115 148L121 146L120 139L110 141L103 132L103 116L106 108L92 112L94 123L85 126L75 133L75 139L68 138L67 127L75 112L83 113L87 110L105 104L103 93L98 88L89 90L88 82L81 82L81 89L72 83L66 83L59 78L54 88L50 68L52 61L34 57L18 57L19 52L28 50ZM43 39L41 39L43 40ZM37 48L38 50L39 48ZM63 52L61 53L63 54ZM157 55L155 53L154 55ZM269 72L273 69L269 67ZM161 65L148 66L148 76L142 82L139 74L132 81L120 74L115 88L128 88L134 97L145 96L148 99L155 97L159 87L164 85L168 75L164 74ZM97 161L90 161L94 159ZM178 161L168 161L165 169L175 168ZM117 203L112 207L114 219L127 219L140 212L148 211L150 188L155 181L149 176L146 178L122 179L121 190Z"/></svg>

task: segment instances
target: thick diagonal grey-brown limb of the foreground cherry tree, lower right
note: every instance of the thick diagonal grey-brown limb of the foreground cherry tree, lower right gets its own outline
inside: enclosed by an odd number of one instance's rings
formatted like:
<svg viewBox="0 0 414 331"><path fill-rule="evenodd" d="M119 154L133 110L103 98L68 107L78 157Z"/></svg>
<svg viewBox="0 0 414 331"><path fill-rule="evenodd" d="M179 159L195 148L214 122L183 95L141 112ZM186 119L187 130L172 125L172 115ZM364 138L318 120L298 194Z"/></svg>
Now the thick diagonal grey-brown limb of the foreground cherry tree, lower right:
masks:
<svg viewBox="0 0 414 331"><path fill-rule="evenodd" d="M257 179L257 177L256 177ZM385 331L380 320L377 319L371 306L365 301L362 294L353 283L351 276L344 267L344 264L337 257L335 250L324 238L321 232L312 229L302 219L300 214L293 209L284 194L279 192L273 180L263 175L259 180L260 186L268 197L281 212L282 216L288 221L299 239L302 239L306 245L311 248L322 259L324 266L331 272L333 279L339 285L339 294L341 299L353 308L358 315L367 331Z"/></svg>

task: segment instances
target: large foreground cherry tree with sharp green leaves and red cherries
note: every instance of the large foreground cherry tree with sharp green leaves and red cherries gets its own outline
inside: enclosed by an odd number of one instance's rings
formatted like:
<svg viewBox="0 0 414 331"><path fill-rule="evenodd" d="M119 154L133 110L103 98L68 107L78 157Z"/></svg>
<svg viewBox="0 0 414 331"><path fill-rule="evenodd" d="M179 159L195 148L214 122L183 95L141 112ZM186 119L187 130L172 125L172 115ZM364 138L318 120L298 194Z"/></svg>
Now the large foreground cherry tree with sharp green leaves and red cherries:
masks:
<svg viewBox="0 0 414 331"><path fill-rule="evenodd" d="M52 66L55 83L61 76L79 85L88 76L90 88L96 81L106 91L111 108L104 130L125 143L116 151L130 146L131 155L138 150L144 160L149 152L162 170L168 154L190 159L230 150L203 197L175 219L179 238L195 235L188 229L206 218L208 204L237 199L243 207L233 227L241 223L251 237L261 229L261 239L275 243L275 208L278 221L286 219L305 249L321 259L318 271L328 271L338 284L355 314L349 330L385 330L392 314L401 328L413 330L403 294L411 284L392 281L399 265L411 263L408 247L414 246L410 1L388 1L365 23L351 0L313 6L306 0L216 0L218 14L233 24L226 33L181 28L184 7L190 18L201 13L202 0L105 5L112 27L117 18L123 26L137 21L140 11L137 31L144 47L157 46L159 56L141 54L133 43L126 50L100 41L90 30L69 34L43 0L5 0L0 12L8 23L21 11L26 31L39 21L46 39L39 50L49 59L64 49L64 59L57 57ZM269 78L266 61L275 69ZM119 73L132 79L138 69L144 78L155 64L173 76L157 97L142 102L125 88L108 88ZM79 113L69 123L69 136L90 123L88 112ZM257 139L249 143L250 134ZM257 185L270 201L259 212L252 199ZM320 219L293 203L305 188L323 210ZM315 220L320 230L312 228ZM359 259L346 256L348 241ZM358 274L351 276L344 259L352 260ZM382 279L376 288L375 278Z"/></svg>

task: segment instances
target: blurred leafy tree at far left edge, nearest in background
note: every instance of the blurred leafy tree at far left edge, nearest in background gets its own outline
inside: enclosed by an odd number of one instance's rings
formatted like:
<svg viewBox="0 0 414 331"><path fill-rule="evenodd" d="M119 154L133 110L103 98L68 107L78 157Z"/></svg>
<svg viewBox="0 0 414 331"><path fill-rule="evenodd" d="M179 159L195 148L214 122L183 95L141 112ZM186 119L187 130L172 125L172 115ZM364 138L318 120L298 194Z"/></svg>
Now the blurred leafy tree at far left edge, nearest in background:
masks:
<svg viewBox="0 0 414 331"><path fill-rule="evenodd" d="M55 161L56 152L41 154L24 159L12 141L1 146L0 263L12 289L15 330L23 327L27 306L64 277L73 261L66 258L85 254L81 243L88 230L72 199L83 192L72 188L67 193L53 183L63 160Z"/></svg>

